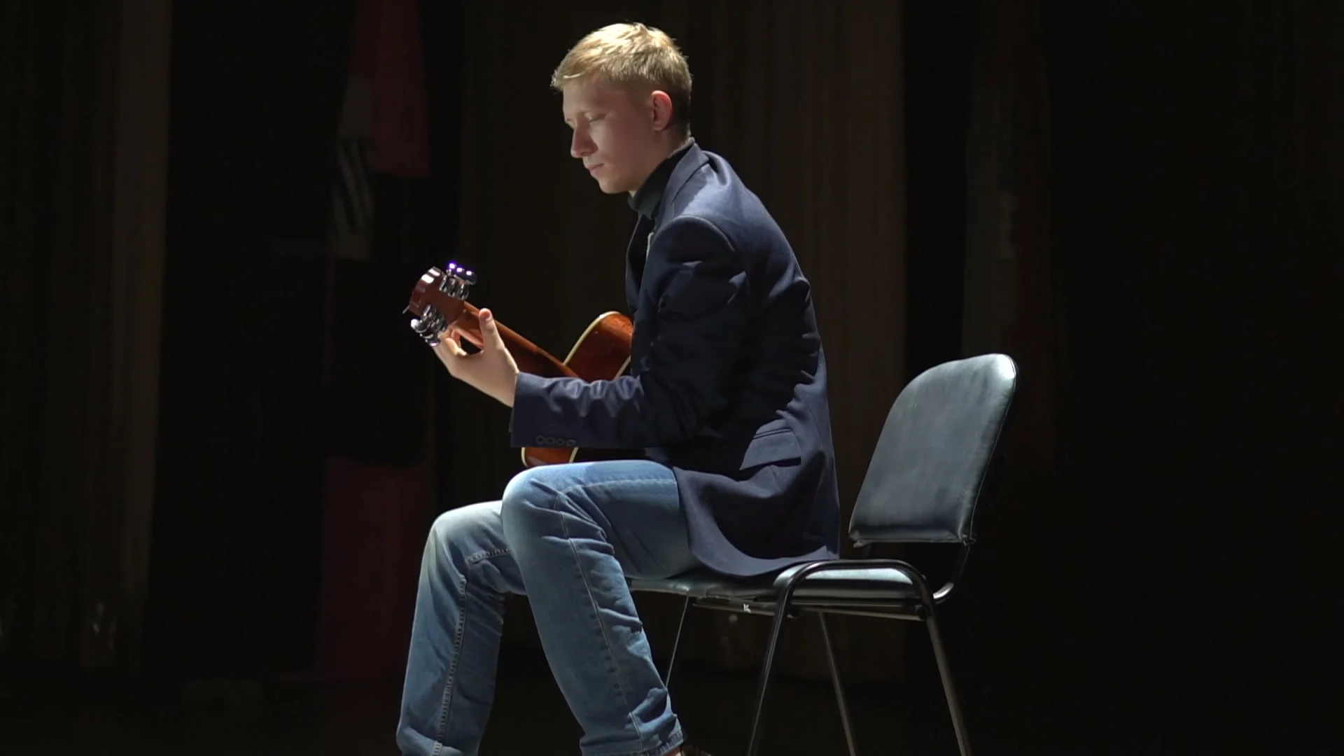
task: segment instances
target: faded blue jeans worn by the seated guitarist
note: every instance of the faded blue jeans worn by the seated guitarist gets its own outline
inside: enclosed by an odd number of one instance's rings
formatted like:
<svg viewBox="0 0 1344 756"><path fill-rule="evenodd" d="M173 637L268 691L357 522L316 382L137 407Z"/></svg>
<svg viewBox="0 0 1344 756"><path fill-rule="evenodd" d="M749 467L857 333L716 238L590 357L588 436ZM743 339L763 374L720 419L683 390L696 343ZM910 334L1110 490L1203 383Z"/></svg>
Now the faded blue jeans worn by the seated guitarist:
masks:
<svg viewBox="0 0 1344 756"><path fill-rule="evenodd" d="M528 596L586 756L663 756L681 725L626 576L692 569L672 471L646 460L538 467L499 502L439 515L421 564L396 743L473 756L495 698L504 595Z"/></svg>

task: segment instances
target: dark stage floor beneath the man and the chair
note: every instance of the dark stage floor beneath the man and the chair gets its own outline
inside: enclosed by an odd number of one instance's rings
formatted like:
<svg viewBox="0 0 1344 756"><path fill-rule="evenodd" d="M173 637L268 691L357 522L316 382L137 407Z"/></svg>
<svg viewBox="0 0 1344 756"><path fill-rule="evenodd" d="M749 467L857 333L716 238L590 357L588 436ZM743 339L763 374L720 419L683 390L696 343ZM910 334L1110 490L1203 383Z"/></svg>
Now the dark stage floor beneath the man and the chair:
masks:
<svg viewBox="0 0 1344 756"><path fill-rule="evenodd" d="M750 677L687 669L673 697L692 740L715 756L739 755L754 691ZM281 753L395 756L395 681L261 687L211 683L168 702L116 690L69 689L11 681L0 697L0 753L136 756L266 756ZM864 756L956 755L942 701L918 702L891 691L856 689L849 704ZM1009 704L1005 701L1005 704ZM1085 701L1038 714L997 717L973 732L978 756L1055 755L1277 755L1332 753L1297 728L1245 721L1156 726L1121 712L1079 716ZM1019 708L1019 710L1021 710ZM984 708L981 708L984 712ZM991 717L993 718L993 717ZM843 756L844 736L829 685L781 681L767 705L763 755ZM495 714L481 756L578 753L578 726L550 671L538 659L501 660ZM1285 737L1292 739L1292 744ZM1314 743L1313 743L1314 741Z"/></svg>

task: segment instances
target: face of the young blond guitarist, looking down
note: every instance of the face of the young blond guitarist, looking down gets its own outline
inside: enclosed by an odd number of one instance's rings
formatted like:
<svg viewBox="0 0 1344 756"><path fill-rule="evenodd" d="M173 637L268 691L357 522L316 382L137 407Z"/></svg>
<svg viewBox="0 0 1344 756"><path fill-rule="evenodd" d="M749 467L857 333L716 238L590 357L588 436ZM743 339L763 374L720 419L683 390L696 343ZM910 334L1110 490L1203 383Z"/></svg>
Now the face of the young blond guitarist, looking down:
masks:
<svg viewBox="0 0 1344 756"><path fill-rule="evenodd" d="M599 81L581 79L566 85L563 96L564 122L574 130L570 155L583 161L602 191L634 192L667 157L663 93L638 102Z"/></svg>

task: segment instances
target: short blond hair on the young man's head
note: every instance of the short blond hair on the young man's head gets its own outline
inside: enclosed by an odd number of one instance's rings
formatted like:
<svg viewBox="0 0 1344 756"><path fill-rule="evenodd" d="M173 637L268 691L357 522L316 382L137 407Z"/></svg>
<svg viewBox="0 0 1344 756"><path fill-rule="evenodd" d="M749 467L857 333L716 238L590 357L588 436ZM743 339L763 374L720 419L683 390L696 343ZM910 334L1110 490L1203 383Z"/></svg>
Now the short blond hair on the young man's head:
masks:
<svg viewBox="0 0 1344 756"><path fill-rule="evenodd" d="M691 67L667 32L641 23L605 26L570 48L551 74L551 87L587 77L634 97L663 90L672 100L672 125L691 133Z"/></svg>

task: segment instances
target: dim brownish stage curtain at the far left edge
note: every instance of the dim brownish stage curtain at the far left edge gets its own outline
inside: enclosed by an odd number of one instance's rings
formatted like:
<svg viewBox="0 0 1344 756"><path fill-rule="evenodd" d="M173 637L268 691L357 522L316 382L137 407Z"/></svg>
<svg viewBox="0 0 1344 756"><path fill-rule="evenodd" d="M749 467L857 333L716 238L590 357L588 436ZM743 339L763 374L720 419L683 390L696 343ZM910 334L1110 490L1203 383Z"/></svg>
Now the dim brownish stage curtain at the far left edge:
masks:
<svg viewBox="0 0 1344 756"><path fill-rule="evenodd" d="M172 4L0 11L0 654L137 660Z"/></svg>

